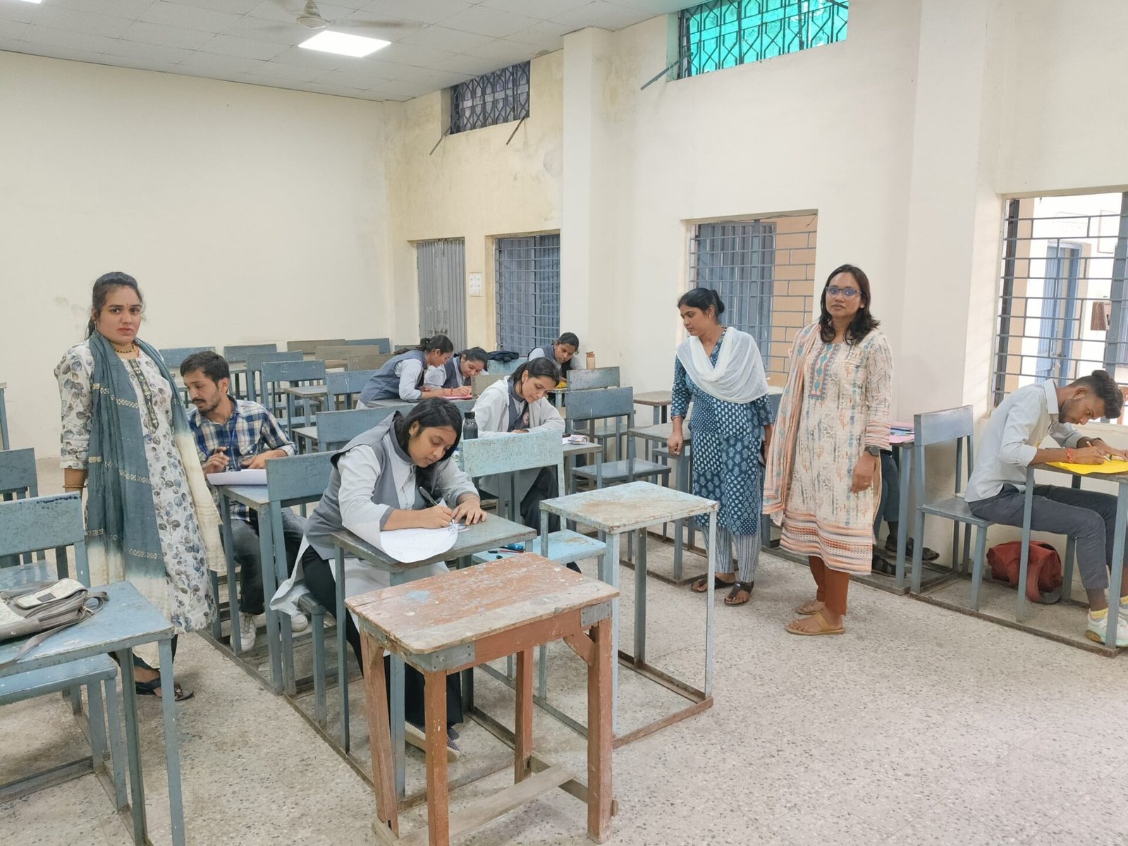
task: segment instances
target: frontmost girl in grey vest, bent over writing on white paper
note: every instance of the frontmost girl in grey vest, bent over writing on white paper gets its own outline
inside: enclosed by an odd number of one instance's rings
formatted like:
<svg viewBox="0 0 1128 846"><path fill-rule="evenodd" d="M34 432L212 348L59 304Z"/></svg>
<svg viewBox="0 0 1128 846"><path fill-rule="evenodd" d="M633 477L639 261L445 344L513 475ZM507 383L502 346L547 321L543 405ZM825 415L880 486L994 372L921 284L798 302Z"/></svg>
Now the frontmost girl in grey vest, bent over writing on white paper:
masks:
<svg viewBox="0 0 1128 846"><path fill-rule="evenodd" d="M473 525L485 519L474 483L450 460L461 431L455 406L446 399L424 399L406 416L397 412L335 452L328 488L306 522L293 575L279 588L271 607L289 611L298 597L309 592L325 608L336 608L335 531L347 529L380 546L384 531L441 529L451 520ZM429 505L428 497L439 504ZM414 571L411 579L446 572L446 564L432 564ZM388 585L387 572L359 558L345 558L346 597ZM360 632L351 614L345 619L345 637L363 669ZM448 725L462 722L460 690L458 673L448 676ZM404 713L409 726L423 729L423 676L411 667L406 668ZM453 751L456 737L448 738ZM408 730L408 739L417 742L420 737Z"/></svg>

